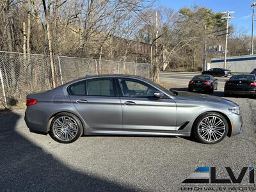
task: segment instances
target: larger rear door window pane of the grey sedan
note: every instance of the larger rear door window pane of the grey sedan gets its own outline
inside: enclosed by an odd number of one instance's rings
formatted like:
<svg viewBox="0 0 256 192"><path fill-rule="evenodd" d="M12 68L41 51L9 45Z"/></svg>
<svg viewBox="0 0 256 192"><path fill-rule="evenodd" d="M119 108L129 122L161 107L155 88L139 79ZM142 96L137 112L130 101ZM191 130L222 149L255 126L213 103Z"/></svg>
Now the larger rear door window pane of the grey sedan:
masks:
<svg viewBox="0 0 256 192"><path fill-rule="evenodd" d="M113 79L90 79L87 81L87 95L90 96L115 96Z"/></svg>

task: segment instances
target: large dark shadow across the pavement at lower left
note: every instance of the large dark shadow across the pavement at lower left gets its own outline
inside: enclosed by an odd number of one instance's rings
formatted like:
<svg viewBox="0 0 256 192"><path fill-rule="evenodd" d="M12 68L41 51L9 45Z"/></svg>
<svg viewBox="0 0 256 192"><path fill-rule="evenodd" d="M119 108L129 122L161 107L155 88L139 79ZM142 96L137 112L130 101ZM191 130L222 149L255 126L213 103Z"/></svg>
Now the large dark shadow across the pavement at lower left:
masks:
<svg viewBox="0 0 256 192"><path fill-rule="evenodd" d="M132 186L69 168L17 131L21 118L10 109L0 109L1 190L138 191Z"/></svg>

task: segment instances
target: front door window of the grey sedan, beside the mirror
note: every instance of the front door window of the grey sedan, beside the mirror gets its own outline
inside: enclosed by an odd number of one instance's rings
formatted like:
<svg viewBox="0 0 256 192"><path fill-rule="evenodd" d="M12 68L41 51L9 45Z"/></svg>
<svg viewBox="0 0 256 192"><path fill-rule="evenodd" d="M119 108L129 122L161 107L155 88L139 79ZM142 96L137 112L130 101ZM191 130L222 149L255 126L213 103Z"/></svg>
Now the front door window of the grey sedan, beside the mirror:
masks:
<svg viewBox="0 0 256 192"><path fill-rule="evenodd" d="M118 79L124 97L154 97L156 89L135 79Z"/></svg>

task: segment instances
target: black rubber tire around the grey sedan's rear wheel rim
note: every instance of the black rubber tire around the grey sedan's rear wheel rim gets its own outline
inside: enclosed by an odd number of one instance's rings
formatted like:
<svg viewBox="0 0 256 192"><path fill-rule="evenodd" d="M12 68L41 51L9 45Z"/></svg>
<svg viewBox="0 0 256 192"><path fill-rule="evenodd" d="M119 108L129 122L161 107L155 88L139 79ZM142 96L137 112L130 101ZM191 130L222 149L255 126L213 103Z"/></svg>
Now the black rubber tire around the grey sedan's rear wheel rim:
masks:
<svg viewBox="0 0 256 192"><path fill-rule="evenodd" d="M70 116L71 118L73 118L76 123L77 123L77 135L76 137L74 137L72 140L70 141L62 141L59 140L58 138L56 138L56 136L54 136L53 131L52 131L52 125L54 123L54 121L57 118L60 118L60 116ZM55 141L57 141L58 143L73 143L74 141L76 141L82 134L83 134L83 125L81 124L81 121L79 120L79 118L77 118L76 115L73 115L72 113L67 113L67 112L63 112L63 113L59 113L58 115L54 116L54 118L51 121L51 125L50 125L50 132L49 132L51 138Z"/></svg>

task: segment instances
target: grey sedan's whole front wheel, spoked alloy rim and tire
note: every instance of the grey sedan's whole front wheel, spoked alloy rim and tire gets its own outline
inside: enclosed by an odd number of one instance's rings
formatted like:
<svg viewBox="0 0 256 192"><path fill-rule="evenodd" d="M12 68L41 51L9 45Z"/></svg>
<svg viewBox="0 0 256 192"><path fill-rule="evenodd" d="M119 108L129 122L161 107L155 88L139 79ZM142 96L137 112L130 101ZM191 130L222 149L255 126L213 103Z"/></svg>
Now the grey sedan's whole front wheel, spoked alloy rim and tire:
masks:
<svg viewBox="0 0 256 192"><path fill-rule="evenodd" d="M215 128L211 125L211 121L214 121L213 124L217 124ZM214 144L223 140L227 136L227 132L228 122L225 117L219 113L209 112L197 118L192 135L201 143Z"/></svg>

